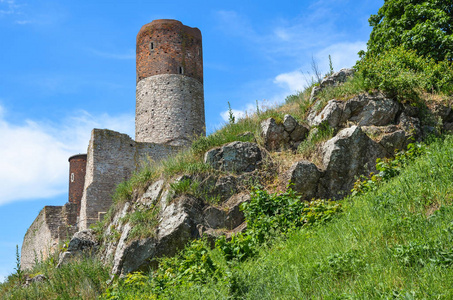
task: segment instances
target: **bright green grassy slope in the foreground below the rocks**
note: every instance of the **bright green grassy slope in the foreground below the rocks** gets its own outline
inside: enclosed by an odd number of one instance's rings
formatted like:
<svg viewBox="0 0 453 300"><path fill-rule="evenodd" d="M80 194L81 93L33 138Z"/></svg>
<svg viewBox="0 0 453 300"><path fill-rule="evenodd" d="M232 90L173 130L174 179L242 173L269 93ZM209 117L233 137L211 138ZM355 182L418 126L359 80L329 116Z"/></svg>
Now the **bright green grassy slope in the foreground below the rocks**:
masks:
<svg viewBox="0 0 453 300"><path fill-rule="evenodd" d="M376 190L341 201L342 212L330 222L267 239L245 260L194 243L172 262L164 260L163 269L131 275L104 296L451 299L452 180L448 136ZM175 269L178 264L185 268Z"/></svg>

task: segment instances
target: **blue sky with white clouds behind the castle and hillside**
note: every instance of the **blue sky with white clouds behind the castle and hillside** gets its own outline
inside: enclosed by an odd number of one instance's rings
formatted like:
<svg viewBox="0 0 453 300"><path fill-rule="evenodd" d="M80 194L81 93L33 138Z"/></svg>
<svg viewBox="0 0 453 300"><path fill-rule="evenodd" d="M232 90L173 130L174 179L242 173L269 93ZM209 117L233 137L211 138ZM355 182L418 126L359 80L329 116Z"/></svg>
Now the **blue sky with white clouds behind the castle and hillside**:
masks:
<svg viewBox="0 0 453 300"><path fill-rule="evenodd" d="M68 157L93 128L134 137L135 38L154 19L203 35L208 132L303 89L312 57L351 67L383 0L0 0L0 280L45 205L67 202Z"/></svg>

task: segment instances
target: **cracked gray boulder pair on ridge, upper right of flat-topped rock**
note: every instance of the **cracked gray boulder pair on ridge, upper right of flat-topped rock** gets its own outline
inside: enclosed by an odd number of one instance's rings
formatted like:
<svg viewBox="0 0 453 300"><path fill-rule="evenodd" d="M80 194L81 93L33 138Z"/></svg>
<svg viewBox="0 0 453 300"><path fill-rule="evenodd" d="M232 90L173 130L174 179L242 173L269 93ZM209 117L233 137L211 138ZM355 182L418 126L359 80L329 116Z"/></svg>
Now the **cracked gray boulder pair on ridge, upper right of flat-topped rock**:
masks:
<svg viewBox="0 0 453 300"><path fill-rule="evenodd" d="M299 124L291 115L285 115L283 124L277 124L273 118L261 122L261 136L267 150L297 149L308 131L308 127Z"/></svg>

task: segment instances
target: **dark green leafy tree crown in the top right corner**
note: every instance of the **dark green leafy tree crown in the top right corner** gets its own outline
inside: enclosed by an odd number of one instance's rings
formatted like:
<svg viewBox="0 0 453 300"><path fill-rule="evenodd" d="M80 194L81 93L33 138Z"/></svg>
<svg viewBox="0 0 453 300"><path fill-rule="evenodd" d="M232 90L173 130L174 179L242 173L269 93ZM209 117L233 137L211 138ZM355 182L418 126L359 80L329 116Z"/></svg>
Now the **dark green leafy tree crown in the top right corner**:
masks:
<svg viewBox="0 0 453 300"><path fill-rule="evenodd" d="M368 52L402 46L436 61L453 60L453 3L445 0L386 0L369 19Z"/></svg>

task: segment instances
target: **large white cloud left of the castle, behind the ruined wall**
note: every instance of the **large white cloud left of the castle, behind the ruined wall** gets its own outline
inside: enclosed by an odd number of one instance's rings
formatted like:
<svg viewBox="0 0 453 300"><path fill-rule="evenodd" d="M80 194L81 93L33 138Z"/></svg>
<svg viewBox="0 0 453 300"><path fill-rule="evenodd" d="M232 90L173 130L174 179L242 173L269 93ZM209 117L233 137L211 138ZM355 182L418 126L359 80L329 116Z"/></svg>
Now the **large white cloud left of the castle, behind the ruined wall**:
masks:
<svg viewBox="0 0 453 300"><path fill-rule="evenodd" d="M132 115L93 116L79 111L59 124L13 125L0 106L0 205L67 192L68 158L85 153L93 128L133 133Z"/></svg>

